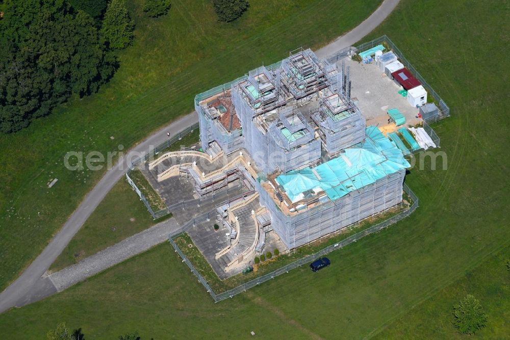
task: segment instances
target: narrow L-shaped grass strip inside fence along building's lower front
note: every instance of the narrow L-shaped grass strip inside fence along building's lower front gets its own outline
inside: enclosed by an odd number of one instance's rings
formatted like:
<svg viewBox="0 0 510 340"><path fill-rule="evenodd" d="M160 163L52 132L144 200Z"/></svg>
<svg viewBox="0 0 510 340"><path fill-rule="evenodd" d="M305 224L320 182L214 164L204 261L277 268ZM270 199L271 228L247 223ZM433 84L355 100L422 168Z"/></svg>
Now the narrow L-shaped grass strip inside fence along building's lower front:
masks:
<svg viewBox="0 0 510 340"><path fill-rule="evenodd" d="M408 201L411 199L407 198ZM220 280L216 273L214 273L211 265L203 257L202 253L194 246L193 241L189 237L188 234L183 234L174 238L175 244L179 246L181 251L186 255L186 257L191 261L193 266L198 270L200 275L209 282L211 288L213 288L214 293L219 294L225 292L228 289L235 288L240 284L256 279L257 277L263 276L270 272L273 272L279 268L282 268L284 265L287 265L291 262L294 262L298 259L301 259L307 255L315 254L318 251L326 248L327 246L333 245L351 235L359 233L365 229L368 229L377 223L388 220L388 218L396 215L401 212L403 207L394 207L388 210L385 214L379 214L370 218L365 218L359 225L354 225L347 230L344 230L342 233L337 233L336 235L319 239L315 242L312 242L310 245L299 247L295 249L290 254L280 254L279 256L274 256L274 249L264 249L264 255L270 251L273 254L273 257L269 260L266 257L265 261L261 261L260 264L254 265L254 270L248 274L238 274L232 276L230 278ZM391 227L390 227L391 228ZM193 245L193 247L189 248L188 245ZM279 249L281 251L281 249Z"/></svg>

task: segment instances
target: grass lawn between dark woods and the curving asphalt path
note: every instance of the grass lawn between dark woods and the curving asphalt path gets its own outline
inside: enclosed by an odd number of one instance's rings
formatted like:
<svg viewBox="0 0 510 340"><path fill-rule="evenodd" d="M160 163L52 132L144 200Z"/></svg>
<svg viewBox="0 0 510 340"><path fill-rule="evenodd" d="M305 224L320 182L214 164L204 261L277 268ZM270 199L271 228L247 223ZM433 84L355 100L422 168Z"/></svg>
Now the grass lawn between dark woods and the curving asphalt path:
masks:
<svg viewBox="0 0 510 340"><path fill-rule="evenodd" d="M144 3L129 2L136 38L118 53L121 66L107 86L71 99L28 129L0 136L0 289L43 250L104 174L68 171L67 152L129 149L191 112L196 93L281 60L296 47L323 45L381 1L253 1L233 23L219 22L210 0L175 0L157 19L143 13ZM54 178L59 181L49 189Z"/></svg>

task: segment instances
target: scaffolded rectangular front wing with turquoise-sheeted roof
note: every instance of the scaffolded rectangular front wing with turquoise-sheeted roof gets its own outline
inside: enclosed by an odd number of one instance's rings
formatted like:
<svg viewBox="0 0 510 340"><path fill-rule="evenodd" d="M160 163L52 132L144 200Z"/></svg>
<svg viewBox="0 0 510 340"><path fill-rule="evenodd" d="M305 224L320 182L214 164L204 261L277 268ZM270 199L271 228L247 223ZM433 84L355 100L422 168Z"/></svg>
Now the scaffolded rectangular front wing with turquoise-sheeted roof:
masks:
<svg viewBox="0 0 510 340"><path fill-rule="evenodd" d="M402 152L376 127L342 156L256 183L271 226L289 248L307 244L402 201Z"/></svg>

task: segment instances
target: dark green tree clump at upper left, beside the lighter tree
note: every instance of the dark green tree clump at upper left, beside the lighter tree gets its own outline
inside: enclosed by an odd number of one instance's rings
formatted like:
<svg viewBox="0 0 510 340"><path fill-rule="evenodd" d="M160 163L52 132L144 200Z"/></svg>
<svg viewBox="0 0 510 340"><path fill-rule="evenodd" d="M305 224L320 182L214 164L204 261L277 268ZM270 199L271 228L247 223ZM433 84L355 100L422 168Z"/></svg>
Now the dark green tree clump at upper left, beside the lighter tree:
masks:
<svg viewBox="0 0 510 340"><path fill-rule="evenodd" d="M4 4L0 20L0 132L17 131L71 93L95 92L116 61L92 17L61 0Z"/></svg>

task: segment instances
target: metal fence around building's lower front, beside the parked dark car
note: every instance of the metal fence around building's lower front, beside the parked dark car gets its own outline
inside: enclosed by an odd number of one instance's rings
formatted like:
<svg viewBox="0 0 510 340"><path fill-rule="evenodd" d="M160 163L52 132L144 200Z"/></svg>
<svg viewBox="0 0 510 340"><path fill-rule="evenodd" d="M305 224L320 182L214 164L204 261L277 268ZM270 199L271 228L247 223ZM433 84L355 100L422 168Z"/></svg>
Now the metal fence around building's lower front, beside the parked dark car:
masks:
<svg viewBox="0 0 510 340"><path fill-rule="evenodd" d="M303 264L309 264L321 256L327 255L337 249L341 249L341 248L351 244L352 242L358 241L359 239L361 239L367 235L381 231L382 229L387 228L387 227L391 226L392 224L409 216L418 207L418 197L414 194L414 192L405 183L403 184L403 191L405 193L407 193L407 195L409 195L409 197L411 198L413 203L411 204L411 206L407 207L404 211L401 211L400 213L388 218L388 220L382 221L370 228L360 231L359 233L351 235L351 236L339 241L338 243L336 243L334 245L325 247L324 249L318 251L315 254L311 254L311 255L305 256L303 258L300 258L299 260L296 260L292 263L282 266L281 268L279 268L269 274L265 274L264 276L258 277L256 279L253 279L251 281L243 283L233 289L227 290L226 292L219 293L219 294L216 294L213 291L213 289L211 288L211 286L209 285L207 280L205 278L203 278L200 275L200 273L198 273L197 269L193 266L193 263L191 263L191 261L186 257L186 255L184 255L184 253L181 251L179 246L177 246L175 244L175 242L173 241L173 238L175 238L175 236L183 234L184 232L189 230L191 227L193 227L193 225L195 223L206 221L208 218L214 217L215 211L212 210L207 213L203 213L200 216L194 218L193 220L190 220L188 223L183 225L183 227L180 231L169 235L168 241L170 242L170 245L172 245L172 247L175 249L175 252L177 254L179 254L179 256L183 259L183 262L185 262L188 265L191 272L193 274L195 274L195 276L198 278L198 281L207 289L207 292L209 294L211 294L211 297L213 298L214 302L219 302L219 301L227 299L227 298L232 298L239 293L246 292L246 290L248 290L254 286L257 286L265 281L271 280L278 275L288 273L290 270L292 270L294 268L298 268L299 266L301 266Z"/></svg>

